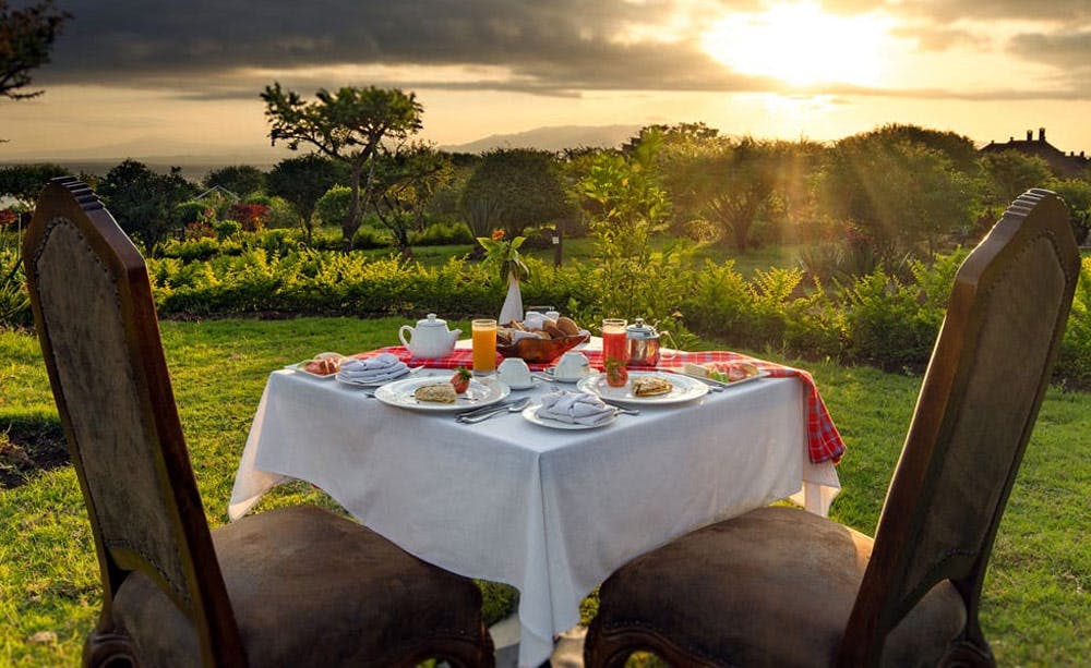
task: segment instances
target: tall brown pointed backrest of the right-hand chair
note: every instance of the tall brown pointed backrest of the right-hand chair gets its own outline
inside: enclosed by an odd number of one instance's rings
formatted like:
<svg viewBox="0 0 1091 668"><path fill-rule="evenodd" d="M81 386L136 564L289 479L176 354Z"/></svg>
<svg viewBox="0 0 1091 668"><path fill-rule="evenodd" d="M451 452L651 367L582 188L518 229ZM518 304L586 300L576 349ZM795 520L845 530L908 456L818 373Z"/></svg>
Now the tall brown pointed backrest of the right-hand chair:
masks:
<svg viewBox="0 0 1091 668"><path fill-rule="evenodd" d="M959 268L846 630L846 664L950 580L976 612L985 566L1079 278L1068 210L1050 191L1016 199ZM855 658L849 658L853 656Z"/></svg>

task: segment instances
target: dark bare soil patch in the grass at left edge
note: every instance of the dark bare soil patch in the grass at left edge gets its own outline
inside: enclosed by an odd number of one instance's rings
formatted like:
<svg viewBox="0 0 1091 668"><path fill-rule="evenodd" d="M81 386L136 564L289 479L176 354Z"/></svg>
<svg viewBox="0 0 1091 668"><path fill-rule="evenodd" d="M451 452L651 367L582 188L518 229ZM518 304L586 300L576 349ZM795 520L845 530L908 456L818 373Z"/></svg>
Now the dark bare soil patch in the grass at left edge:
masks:
<svg viewBox="0 0 1091 668"><path fill-rule="evenodd" d="M64 429L53 417L14 417L0 423L0 489L69 463Z"/></svg>

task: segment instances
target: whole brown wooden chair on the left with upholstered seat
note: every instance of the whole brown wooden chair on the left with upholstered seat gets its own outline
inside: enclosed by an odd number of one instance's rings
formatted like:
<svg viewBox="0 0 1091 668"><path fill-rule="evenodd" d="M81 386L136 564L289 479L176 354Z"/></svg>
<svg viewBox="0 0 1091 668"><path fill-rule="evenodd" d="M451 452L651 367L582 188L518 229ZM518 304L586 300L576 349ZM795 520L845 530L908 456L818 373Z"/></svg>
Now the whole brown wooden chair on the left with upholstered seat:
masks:
<svg viewBox="0 0 1091 668"><path fill-rule="evenodd" d="M472 581L315 507L209 532L143 258L75 179L23 247L35 326L95 536L88 666L492 666Z"/></svg>

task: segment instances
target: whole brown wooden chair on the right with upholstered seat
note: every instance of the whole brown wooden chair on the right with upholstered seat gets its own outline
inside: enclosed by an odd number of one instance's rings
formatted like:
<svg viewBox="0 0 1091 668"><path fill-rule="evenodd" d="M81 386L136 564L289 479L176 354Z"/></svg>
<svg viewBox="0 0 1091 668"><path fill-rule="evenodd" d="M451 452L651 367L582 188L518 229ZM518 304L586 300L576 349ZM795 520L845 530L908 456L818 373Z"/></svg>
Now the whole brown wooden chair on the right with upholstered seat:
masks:
<svg viewBox="0 0 1091 668"><path fill-rule="evenodd" d="M1079 266L1064 203L1020 196L958 271L874 542L788 507L693 532L602 585L587 665L992 665L985 564Z"/></svg>

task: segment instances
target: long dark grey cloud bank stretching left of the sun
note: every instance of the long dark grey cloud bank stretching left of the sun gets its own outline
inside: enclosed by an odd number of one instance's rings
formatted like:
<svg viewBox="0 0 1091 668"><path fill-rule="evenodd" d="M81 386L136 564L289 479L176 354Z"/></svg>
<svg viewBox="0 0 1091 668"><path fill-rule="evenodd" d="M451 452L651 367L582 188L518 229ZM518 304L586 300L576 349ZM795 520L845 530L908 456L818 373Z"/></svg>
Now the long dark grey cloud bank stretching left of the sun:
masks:
<svg viewBox="0 0 1091 668"><path fill-rule="evenodd" d="M664 1L70 0L64 9L73 19L43 83L201 90L247 71L305 78L315 68L415 63L504 65L512 77L487 87L553 94L753 85L664 38L678 10ZM640 38L625 39L633 34Z"/></svg>

